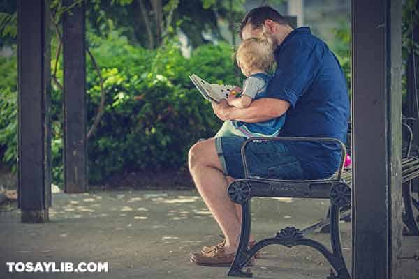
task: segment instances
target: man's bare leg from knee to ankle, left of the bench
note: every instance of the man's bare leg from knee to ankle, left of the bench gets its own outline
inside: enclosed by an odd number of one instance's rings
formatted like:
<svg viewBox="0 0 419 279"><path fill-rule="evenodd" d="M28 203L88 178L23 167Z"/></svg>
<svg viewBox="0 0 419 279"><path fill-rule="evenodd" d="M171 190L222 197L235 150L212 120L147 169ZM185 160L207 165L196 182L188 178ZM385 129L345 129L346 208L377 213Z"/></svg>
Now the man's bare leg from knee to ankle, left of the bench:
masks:
<svg viewBox="0 0 419 279"><path fill-rule="evenodd" d="M228 181L221 171L214 139L198 142L191 147L189 170L198 192L226 236L224 250L226 253L235 252L240 236L241 210L237 216L236 206L227 195Z"/></svg>

